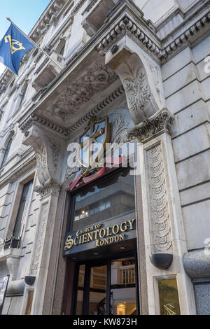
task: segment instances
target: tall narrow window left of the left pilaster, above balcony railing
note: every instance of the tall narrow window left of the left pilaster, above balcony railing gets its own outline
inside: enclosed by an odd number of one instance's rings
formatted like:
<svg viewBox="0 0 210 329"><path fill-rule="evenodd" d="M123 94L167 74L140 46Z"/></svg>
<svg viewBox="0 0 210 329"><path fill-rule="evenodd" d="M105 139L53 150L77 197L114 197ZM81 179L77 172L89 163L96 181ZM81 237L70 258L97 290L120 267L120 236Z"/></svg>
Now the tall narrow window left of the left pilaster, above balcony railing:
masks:
<svg viewBox="0 0 210 329"><path fill-rule="evenodd" d="M20 239L22 233L22 223L25 218L25 213L27 211L27 206L29 203L29 197L31 195L31 188L33 185L33 180L29 181L22 190L22 196L20 199L20 205L18 209L18 215L15 221L15 228L13 230L13 237L14 239Z"/></svg>

